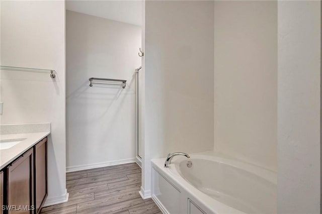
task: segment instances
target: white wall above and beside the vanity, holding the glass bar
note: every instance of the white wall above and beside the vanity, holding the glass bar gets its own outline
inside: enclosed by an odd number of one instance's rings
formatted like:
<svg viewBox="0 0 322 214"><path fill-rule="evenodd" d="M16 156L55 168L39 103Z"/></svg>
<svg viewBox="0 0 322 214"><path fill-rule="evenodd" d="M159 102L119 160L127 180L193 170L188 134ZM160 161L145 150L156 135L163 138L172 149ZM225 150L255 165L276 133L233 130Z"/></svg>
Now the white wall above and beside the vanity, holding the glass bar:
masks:
<svg viewBox="0 0 322 214"><path fill-rule="evenodd" d="M49 202L65 192L65 3L1 1L1 65L47 68L49 74L1 71L1 124L51 123Z"/></svg>

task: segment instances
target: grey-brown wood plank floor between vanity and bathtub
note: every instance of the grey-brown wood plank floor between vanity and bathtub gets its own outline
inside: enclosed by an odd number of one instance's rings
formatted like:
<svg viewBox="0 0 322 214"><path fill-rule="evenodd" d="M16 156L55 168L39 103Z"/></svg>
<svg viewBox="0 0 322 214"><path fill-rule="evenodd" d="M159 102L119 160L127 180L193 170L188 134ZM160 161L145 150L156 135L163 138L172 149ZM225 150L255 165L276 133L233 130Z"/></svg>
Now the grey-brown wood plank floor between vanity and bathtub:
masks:
<svg viewBox="0 0 322 214"><path fill-rule="evenodd" d="M162 213L152 199L138 191L141 169L136 163L66 173L69 199L43 207L41 213Z"/></svg>

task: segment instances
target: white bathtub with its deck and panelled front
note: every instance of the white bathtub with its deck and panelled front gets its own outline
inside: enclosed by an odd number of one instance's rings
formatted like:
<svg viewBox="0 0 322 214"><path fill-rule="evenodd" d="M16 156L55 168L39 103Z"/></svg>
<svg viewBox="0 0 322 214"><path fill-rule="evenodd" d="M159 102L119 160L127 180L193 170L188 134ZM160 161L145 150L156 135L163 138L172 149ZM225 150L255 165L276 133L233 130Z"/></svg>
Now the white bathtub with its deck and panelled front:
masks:
<svg viewBox="0 0 322 214"><path fill-rule="evenodd" d="M152 199L164 213L276 213L275 172L218 155L152 160ZM187 166L191 161L191 167Z"/></svg>

